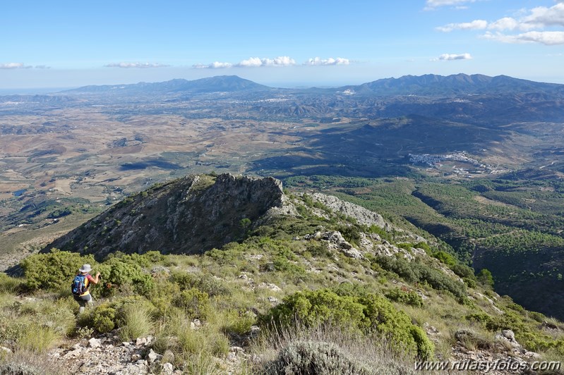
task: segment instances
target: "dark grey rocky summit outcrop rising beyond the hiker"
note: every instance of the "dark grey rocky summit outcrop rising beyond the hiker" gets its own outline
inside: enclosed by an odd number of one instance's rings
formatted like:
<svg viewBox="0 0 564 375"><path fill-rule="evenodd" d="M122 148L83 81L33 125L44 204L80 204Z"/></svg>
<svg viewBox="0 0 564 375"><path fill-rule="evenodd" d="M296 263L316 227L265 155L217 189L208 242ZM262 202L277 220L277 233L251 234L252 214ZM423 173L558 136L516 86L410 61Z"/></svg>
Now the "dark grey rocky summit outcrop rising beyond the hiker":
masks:
<svg viewBox="0 0 564 375"><path fill-rule="evenodd" d="M186 176L124 199L46 247L94 254L201 254L238 240L270 215L292 214L275 178Z"/></svg>

